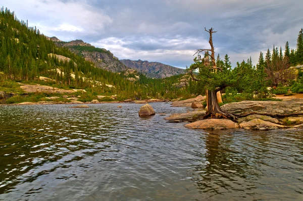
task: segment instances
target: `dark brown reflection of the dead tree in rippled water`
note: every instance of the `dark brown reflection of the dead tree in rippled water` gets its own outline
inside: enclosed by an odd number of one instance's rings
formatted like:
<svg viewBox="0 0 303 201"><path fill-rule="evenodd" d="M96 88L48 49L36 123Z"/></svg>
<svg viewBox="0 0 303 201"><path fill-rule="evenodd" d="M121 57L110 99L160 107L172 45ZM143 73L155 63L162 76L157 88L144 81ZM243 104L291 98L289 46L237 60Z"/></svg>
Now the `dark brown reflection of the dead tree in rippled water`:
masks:
<svg viewBox="0 0 303 201"><path fill-rule="evenodd" d="M193 180L206 197L220 197L228 192L233 192L235 197L246 197L244 194L254 193L256 185L251 182L249 185L245 180L256 177L256 171L249 167L247 155L241 150L244 146L234 134L233 131L210 131L201 136L205 150L196 154L201 160L193 168Z"/></svg>

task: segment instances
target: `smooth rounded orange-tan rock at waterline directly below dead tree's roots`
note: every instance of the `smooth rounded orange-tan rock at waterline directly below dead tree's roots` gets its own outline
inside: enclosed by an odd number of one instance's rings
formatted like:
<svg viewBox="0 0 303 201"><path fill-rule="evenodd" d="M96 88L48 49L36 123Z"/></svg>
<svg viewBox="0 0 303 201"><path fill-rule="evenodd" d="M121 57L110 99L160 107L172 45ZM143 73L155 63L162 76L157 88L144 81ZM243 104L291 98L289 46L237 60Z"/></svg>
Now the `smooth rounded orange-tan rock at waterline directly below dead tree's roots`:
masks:
<svg viewBox="0 0 303 201"><path fill-rule="evenodd" d="M185 127L192 129L226 130L239 128L239 125L228 119L205 119L186 124Z"/></svg>

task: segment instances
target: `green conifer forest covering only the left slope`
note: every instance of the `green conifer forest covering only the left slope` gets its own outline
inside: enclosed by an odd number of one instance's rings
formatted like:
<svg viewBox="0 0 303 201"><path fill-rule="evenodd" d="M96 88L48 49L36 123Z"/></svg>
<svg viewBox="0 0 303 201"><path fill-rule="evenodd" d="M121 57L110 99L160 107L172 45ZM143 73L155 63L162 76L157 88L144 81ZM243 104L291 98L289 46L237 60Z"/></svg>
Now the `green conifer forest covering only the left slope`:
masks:
<svg viewBox="0 0 303 201"><path fill-rule="evenodd" d="M15 13L8 9L1 9L0 30L0 91L8 91L8 86L14 85L12 82L21 82L85 89L89 96L87 100L103 94L117 94L121 100L148 97L172 99L186 94L186 88L174 85L180 76L151 79L138 74L140 79L129 81L127 78L132 77L131 74L112 73L96 68L93 63L85 61L68 48L56 46L52 40L40 34L39 29L28 27L28 22L18 20ZM62 61L55 55L70 60ZM41 81L40 76L49 78L49 81Z"/></svg>

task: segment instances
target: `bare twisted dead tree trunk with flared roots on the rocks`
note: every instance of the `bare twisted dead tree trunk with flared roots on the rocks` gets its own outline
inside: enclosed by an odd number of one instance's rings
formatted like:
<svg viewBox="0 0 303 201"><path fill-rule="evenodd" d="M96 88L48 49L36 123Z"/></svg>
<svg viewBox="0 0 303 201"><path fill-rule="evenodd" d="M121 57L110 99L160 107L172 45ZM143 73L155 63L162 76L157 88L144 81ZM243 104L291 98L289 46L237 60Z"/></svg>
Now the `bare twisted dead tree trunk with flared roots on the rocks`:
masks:
<svg viewBox="0 0 303 201"><path fill-rule="evenodd" d="M213 33L216 33L217 31L214 31L213 28L211 28L209 30L207 30L205 28L205 31L207 31L210 34L209 43L211 45L211 48L210 49L197 49L197 52L194 55L204 52L205 55L207 57L210 57L210 59L211 59L212 68L210 68L210 69L212 70L213 73L217 73L217 70L222 71L222 69L217 68L217 66L216 66L215 48L214 48L214 44L213 44ZM205 61L204 61L204 64L206 64ZM186 70L190 74L190 76L193 80L201 81L200 79L198 79L194 76L194 73L193 73L194 70L195 70L194 68L189 68L189 69L186 68ZM202 117L203 119L208 119L208 118L221 119L221 118L224 118L224 119L232 119L232 120L235 121L236 117L232 114L223 112L220 109L220 106L219 106L219 103L218 103L217 92L224 89L225 87L227 87L227 85L222 85L220 87L217 87L215 90L207 90L207 95L206 95L207 112L206 112L206 115Z"/></svg>

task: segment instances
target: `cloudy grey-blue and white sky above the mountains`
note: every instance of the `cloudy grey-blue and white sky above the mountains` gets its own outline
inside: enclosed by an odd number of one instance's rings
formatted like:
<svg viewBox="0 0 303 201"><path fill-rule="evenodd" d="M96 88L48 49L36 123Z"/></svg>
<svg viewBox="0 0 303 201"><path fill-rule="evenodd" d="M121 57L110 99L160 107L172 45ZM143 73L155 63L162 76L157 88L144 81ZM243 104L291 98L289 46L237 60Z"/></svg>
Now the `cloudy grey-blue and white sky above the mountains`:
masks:
<svg viewBox="0 0 303 201"><path fill-rule="evenodd" d="M214 3L215 2L215 3ZM216 53L232 64L260 51L295 48L303 27L302 0L0 0L47 36L82 39L119 59L157 61L184 68L198 48L208 48L214 27Z"/></svg>

